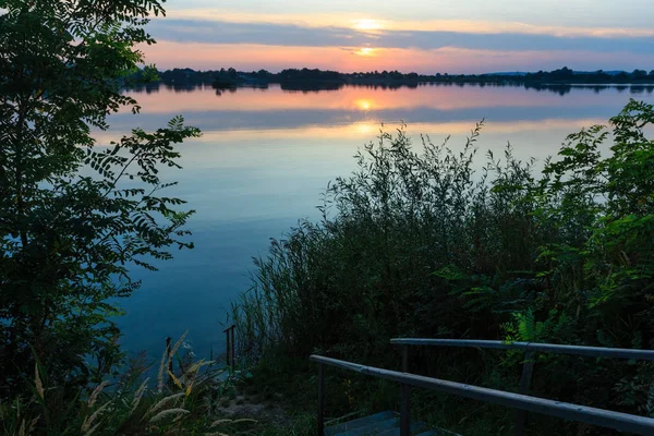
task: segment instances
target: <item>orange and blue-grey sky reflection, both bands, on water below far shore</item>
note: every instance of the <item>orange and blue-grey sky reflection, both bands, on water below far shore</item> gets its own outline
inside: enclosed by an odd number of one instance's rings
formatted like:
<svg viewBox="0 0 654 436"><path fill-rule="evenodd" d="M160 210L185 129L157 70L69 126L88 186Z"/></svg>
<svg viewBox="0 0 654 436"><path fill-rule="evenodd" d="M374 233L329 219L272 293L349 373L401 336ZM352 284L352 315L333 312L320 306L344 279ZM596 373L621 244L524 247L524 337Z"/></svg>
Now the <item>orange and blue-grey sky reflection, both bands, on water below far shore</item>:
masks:
<svg viewBox="0 0 654 436"><path fill-rule="evenodd" d="M607 120L616 114L629 97L652 98L628 94L610 87L602 92L574 86L565 96L521 87L424 86L382 89L348 86L340 90L306 95L288 92L280 86L267 89L238 88L216 96L209 87L136 93L143 107L134 118L129 111L114 116L114 132L129 132L135 123L146 130L158 129L165 117L183 113L186 121L203 131L290 130L315 125L325 128L372 122L413 125L416 123L474 123L482 118L489 122Z"/></svg>

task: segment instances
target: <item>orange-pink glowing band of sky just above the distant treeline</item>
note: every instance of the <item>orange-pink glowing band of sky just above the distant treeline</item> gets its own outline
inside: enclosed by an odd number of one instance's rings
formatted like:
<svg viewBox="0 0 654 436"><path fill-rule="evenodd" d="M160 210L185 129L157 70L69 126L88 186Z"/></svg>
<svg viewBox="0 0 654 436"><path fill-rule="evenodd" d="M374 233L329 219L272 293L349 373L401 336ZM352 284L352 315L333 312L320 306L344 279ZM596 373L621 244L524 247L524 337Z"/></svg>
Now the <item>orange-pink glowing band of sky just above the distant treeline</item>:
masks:
<svg viewBox="0 0 654 436"><path fill-rule="evenodd" d="M254 44L202 44L178 43L159 39L153 46L142 46L148 63L159 69L193 68L214 70L234 66L242 71L265 68L280 71L287 68L317 68L341 72L392 71L449 73L484 73L488 71L552 70L561 65L572 66L579 59L597 68L611 62L621 65L647 65L652 57L629 52L594 52L581 50L475 50L443 47L433 50L417 48L371 47L304 47L264 46ZM383 56L382 56L383 55ZM471 63L474 60L474 63Z"/></svg>

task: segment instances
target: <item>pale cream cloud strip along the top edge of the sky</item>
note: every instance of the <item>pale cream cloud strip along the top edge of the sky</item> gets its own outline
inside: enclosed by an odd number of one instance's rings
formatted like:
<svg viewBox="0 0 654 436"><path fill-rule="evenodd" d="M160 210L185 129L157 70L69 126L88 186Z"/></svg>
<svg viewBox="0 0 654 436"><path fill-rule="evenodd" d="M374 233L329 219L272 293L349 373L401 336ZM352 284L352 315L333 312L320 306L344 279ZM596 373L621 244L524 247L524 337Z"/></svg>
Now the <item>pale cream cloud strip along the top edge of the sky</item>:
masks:
<svg viewBox="0 0 654 436"><path fill-rule="evenodd" d="M342 25L358 19L431 25L437 19L468 21L477 27L516 22L584 32L598 27L651 29L651 16L646 13L651 3L652 0L413 0L404 5L393 0L223 0L218 7L215 0L168 0L167 4L171 17L270 23L286 20L319 26Z"/></svg>

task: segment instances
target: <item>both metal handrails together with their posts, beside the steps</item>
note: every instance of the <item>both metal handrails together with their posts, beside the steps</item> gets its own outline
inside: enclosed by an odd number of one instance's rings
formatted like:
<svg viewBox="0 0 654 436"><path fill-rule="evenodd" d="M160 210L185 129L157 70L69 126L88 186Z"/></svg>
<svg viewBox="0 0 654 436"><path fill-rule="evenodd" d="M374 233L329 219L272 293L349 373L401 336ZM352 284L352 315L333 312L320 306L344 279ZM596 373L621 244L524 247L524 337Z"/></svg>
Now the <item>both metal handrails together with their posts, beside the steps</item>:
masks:
<svg viewBox="0 0 654 436"><path fill-rule="evenodd" d="M471 398L495 404L517 409L516 432L522 434L526 412L536 412L565 420L579 421L588 424L615 428L620 432L630 432L641 435L654 435L654 419L632 415L628 413L614 412L604 409L590 408L585 405L571 404L561 401L547 400L530 397L526 393L531 384L533 361L535 352L554 352L576 354L585 356L622 358L634 360L654 361L654 351L628 350L597 347L557 346L550 343L531 343L481 340L453 340L453 339L392 339L392 344L402 346L402 373L377 368L374 366L360 365L352 362L340 361L320 355L312 355L310 360L318 364L318 435L325 434L324 422L324 365L336 366L341 370L353 371L401 385L400 407L400 435L410 435L410 388L411 386L431 389L439 392L451 393L459 397ZM438 347L472 347L489 349L516 349L525 351L522 377L520 380L520 393L506 392L496 389L482 388L456 382L448 382L433 377L409 374L409 346L438 346Z"/></svg>

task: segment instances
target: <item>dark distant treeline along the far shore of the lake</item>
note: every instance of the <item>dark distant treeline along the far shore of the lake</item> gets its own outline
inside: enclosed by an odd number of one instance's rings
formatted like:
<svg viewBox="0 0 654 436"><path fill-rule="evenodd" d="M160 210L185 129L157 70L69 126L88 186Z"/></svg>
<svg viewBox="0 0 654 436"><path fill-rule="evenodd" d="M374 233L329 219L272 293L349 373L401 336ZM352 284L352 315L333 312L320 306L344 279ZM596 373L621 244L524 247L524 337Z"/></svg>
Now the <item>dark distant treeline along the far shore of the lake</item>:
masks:
<svg viewBox="0 0 654 436"><path fill-rule="evenodd" d="M138 80L142 71L133 75ZM602 89L603 86L652 86L654 89L654 70L634 70L633 72L613 71L576 72L566 66L536 73L489 73L489 74L448 74L434 75L400 73L398 71L374 71L339 73L310 69L287 69L279 73L266 70L242 72L233 68L217 71L195 71L173 69L157 71L158 80L146 87L155 89L164 84L175 88L211 86L218 92L233 90L240 87L267 88L279 85L284 90L318 92L336 90L344 86L365 86L380 88L419 87L426 85L477 85L477 86L524 86L535 89L569 92L571 86L589 86Z"/></svg>

